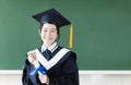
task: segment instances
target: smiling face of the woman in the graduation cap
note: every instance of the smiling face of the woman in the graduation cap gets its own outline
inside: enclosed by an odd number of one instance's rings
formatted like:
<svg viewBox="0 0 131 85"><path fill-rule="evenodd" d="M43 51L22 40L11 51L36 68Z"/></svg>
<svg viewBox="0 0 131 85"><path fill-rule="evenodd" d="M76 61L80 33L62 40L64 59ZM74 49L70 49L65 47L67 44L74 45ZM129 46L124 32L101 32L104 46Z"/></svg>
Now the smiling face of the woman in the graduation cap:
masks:
<svg viewBox="0 0 131 85"><path fill-rule="evenodd" d="M50 47L58 38L57 26L45 23L39 31L40 38L46 47Z"/></svg>

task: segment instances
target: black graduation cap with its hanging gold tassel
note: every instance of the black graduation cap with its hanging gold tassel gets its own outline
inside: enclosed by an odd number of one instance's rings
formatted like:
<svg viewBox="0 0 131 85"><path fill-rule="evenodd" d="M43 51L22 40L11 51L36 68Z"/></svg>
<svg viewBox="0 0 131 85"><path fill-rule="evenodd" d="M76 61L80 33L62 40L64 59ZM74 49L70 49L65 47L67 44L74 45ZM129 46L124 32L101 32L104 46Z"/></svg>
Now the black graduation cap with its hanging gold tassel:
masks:
<svg viewBox="0 0 131 85"><path fill-rule="evenodd" d="M70 25L69 46L70 46L70 48L72 48L72 39L73 39L72 24L62 14L60 14L57 10L50 9L50 10L47 10L47 11L44 11L44 12L33 15L33 17L40 24L45 24L45 23L55 24L57 26L57 28L60 28L66 25Z"/></svg>

